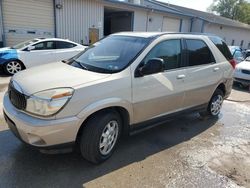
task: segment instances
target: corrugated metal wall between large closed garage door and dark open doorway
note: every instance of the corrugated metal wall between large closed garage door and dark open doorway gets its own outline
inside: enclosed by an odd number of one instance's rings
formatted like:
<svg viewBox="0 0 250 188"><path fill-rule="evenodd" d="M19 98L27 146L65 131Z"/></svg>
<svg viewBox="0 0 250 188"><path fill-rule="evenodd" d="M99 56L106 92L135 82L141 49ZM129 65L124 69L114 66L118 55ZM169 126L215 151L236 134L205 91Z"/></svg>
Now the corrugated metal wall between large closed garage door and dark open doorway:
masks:
<svg viewBox="0 0 250 188"><path fill-rule="evenodd" d="M103 37L104 6L96 0L56 0L57 37L88 44L89 28L99 29Z"/></svg>

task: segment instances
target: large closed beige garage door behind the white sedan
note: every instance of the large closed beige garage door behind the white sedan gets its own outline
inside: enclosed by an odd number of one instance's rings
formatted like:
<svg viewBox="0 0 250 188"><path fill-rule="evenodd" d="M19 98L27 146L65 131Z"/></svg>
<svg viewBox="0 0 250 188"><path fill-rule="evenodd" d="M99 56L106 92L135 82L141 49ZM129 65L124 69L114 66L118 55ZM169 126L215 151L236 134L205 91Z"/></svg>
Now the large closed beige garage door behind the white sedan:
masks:
<svg viewBox="0 0 250 188"><path fill-rule="evenodd" d="M54 36L52 0L3 0L3 19L7 46Z"/></svg>

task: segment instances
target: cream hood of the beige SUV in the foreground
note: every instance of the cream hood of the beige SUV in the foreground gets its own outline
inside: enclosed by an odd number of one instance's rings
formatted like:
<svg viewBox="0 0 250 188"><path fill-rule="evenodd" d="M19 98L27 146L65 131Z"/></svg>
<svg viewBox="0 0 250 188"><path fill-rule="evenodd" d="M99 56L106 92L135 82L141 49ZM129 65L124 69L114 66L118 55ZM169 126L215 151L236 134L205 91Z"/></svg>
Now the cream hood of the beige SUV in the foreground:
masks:
<svg viewBox="0 0 250 188"><path fill-rule="evenodd" d="M78 85L104 79L108 76L110 74L91 72L57 62L21 71L15 74L12 80L18 84L23 93L31 95L53 88L74 88Z"/></svg>

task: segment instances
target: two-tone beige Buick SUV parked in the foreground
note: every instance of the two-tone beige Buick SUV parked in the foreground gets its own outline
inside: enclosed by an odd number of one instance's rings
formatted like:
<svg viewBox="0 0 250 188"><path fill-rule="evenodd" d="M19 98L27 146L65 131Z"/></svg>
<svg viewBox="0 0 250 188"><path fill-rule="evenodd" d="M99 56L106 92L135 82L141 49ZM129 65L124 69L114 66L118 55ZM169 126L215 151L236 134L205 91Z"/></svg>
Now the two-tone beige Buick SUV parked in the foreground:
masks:
<svg viewBox="0 0 250 188"><path fill-rule="evenodd" d="M218 116L235 61L216 36L118 33L68 60L11 79L5 119L40 150L77 145L85 159L108 159L121 135L169 115Z"/></svg>

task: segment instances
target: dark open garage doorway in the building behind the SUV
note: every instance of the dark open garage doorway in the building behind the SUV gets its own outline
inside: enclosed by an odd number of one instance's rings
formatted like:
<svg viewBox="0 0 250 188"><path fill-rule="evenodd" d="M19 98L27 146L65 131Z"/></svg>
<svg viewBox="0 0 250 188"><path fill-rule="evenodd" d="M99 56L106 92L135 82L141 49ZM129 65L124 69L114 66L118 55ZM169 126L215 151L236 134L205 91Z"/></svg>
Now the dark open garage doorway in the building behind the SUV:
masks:
<svg viewBox="0 0 250 188"><path fill-rule="evenodd" d="M104 8L104 36L121 31L133 30L133 12Z"/></svg>

